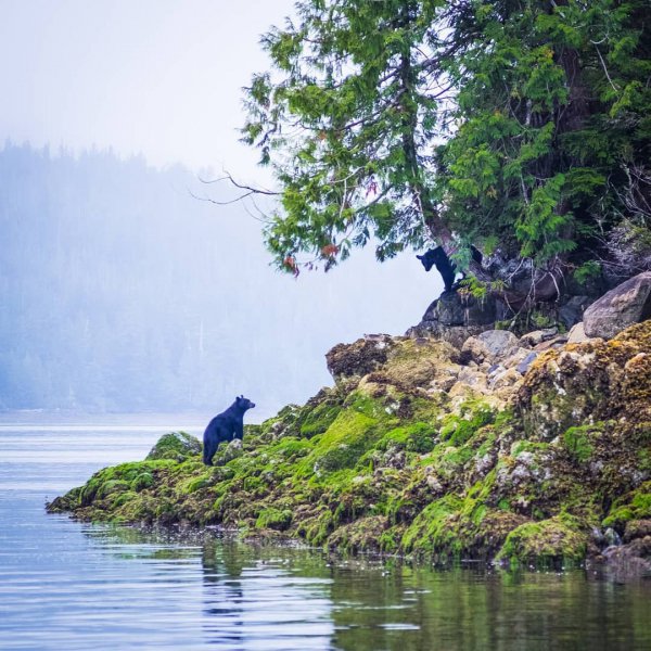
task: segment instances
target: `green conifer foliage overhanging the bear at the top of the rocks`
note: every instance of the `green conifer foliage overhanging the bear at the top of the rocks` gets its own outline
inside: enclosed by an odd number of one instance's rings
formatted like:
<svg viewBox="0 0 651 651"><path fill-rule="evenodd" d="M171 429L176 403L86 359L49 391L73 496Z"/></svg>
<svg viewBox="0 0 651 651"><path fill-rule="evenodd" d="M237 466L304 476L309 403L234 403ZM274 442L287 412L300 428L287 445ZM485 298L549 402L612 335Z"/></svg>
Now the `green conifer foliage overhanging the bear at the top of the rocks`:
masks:
<svg viewBox="0 0 651 651"><path fill-rule="evenodd" d="M470 242L541 266L585 263L615 228L615 265L644 241L626 244L651 220L648 1L296 12L263 38L273 69L247 89L243 128L280 182L265 233L279 267L308 253L328 269L371 237L380 259L456 242L461 267Z"/></svg>

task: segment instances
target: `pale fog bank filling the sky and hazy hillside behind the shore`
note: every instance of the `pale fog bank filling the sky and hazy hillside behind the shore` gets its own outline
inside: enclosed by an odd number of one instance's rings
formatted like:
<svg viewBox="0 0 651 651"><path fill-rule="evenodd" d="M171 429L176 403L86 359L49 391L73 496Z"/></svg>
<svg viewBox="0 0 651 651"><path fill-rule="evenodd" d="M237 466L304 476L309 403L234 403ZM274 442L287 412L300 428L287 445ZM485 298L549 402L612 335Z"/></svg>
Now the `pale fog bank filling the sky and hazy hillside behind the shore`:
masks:
<svg viewBox="0 0 651 651"><path fill-rule="evenodd" d="M411 254L294 280L243 206L190 195L207 167L269 182L238 141L241 88L292 11L0 0L0 410L210 412L243 393L259 420L331 383L332 345L420 320L441 284Z"/></svg>

